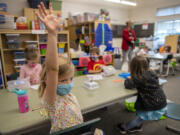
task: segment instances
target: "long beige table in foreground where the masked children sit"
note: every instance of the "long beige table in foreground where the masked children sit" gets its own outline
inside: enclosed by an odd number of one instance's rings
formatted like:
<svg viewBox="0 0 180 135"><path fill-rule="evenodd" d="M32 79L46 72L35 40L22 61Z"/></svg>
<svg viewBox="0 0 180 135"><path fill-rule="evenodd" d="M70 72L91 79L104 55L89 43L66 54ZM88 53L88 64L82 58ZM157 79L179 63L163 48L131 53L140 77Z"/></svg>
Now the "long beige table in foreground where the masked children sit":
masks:
<svg viewBox="0 0 180 135"><path fill-rule="evenodd" d="M137 91L125 89L123 82L113 82L113 80L120 79L119 73L120 71L114 76L97 81L100 87L95 90L88 90L83 87L86 76L74 78L72 93L77 97L83 113L106 107L126 97L136 95ZM28 89L28 97L30 110L41 106L37 90ZM39 110L24 114L19 113L17 95L7 90L0 90L0 134L27 133L45 123L49 123L49 120L44 119Z"/></svg>

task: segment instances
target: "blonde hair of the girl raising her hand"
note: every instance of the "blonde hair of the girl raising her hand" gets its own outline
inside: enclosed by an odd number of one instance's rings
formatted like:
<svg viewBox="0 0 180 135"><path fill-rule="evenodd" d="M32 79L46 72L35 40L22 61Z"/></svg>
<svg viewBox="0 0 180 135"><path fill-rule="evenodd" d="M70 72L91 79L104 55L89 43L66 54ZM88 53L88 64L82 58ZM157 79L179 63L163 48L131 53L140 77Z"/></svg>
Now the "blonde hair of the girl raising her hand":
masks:
<svg viewBox="0 0 180 135"><path fill-rule="evenodd" d="M43 64L43 70L41 72L41 81L39 86L39 97L41 98L44 94L44 90L46 88L46 72L48 72L48 69L46 68L46 64ZM63 78L67 75L74 75L74 65L72 62L65 58L65 57L59 57L59 66L58 66L58 78Z"/></svg>

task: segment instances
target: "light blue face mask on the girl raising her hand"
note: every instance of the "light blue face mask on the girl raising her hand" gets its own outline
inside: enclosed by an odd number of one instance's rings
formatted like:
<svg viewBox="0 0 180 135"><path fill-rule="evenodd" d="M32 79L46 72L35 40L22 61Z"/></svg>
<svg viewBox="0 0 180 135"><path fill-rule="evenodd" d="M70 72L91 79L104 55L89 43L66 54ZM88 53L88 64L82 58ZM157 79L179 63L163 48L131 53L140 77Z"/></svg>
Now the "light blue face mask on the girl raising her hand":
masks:
<svg viewBox="0 0 180 135"><path fill-rule="evenodd" d="M57 94L60 96L65 96L71 92L73 88L73 82L70 84L58 84L57 86Z"/></svg>

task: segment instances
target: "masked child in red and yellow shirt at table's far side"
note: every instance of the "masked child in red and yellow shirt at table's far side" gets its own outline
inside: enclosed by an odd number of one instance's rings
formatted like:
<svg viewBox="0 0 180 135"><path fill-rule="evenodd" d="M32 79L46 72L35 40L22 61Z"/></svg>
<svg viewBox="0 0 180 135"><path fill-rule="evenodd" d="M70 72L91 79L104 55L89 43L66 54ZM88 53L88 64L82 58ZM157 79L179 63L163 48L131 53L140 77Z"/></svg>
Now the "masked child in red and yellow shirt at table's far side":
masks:
<svg viewBox="0 0 180 135"><path fill-rule="evenodd" d="M93 47L90 49L90 62L88 63L88 73L89 74L95 74L102 72L102 66L104 65L103 60L100 60L99 57L99 48Z"/></svg>

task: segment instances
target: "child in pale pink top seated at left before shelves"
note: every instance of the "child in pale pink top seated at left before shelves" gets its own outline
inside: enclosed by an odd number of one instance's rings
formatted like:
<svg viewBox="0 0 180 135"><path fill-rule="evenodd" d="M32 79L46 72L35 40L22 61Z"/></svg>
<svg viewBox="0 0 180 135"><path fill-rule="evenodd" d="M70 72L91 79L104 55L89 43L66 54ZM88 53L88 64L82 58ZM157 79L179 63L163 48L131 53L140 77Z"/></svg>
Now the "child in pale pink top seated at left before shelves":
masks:
<svg viewBox="0 0 180 135"><path fill-rule="evenodd" d="M39 62L39 50L37 48L26 48L25 58L27 64L23 65L20 70L20 79L29 79L31 84L40 82L40 73L42 70Z"/></svg>

